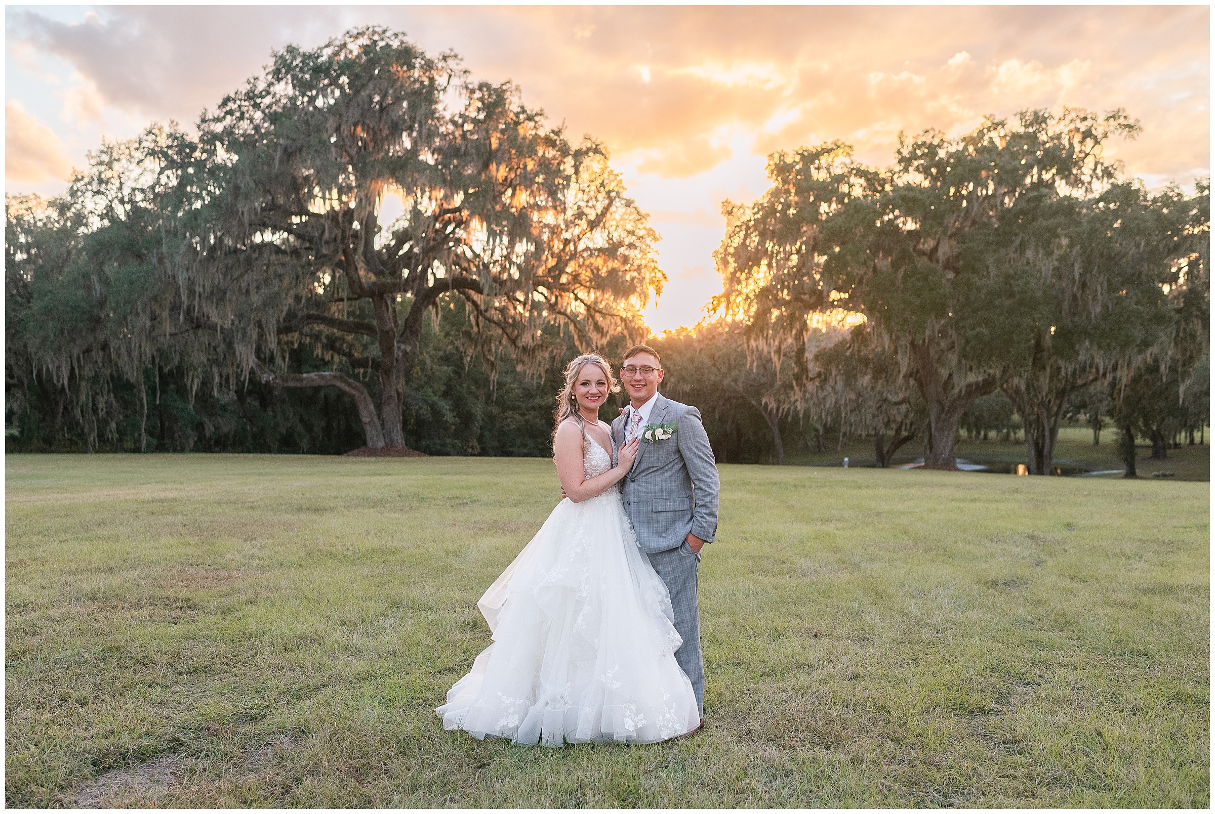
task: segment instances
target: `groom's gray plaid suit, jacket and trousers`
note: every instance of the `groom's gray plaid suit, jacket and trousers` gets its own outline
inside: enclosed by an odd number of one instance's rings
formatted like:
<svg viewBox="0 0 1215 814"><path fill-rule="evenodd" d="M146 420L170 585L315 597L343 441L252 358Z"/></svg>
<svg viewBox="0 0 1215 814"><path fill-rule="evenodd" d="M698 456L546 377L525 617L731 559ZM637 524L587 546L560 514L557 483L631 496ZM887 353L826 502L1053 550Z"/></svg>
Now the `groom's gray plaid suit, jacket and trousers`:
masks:
<svg viewBox="0 0 1215 814"><path fill-rule="evenodd" d="M615 447L625 442L626 417L611 425ZM705 714L705 666L700 657L700 609L696 587L700 554L694 554L685 537L690 531L706 543L717 533L717 464L700 411L657 394L650 424L672 423L679 429L669 439L642 447L623 480L625 511L633 524L642 550L671 592L674 626L683 637L676 651L679 667L696 691L696 705ZM644 429L644 428L643 428Z"/></svg>

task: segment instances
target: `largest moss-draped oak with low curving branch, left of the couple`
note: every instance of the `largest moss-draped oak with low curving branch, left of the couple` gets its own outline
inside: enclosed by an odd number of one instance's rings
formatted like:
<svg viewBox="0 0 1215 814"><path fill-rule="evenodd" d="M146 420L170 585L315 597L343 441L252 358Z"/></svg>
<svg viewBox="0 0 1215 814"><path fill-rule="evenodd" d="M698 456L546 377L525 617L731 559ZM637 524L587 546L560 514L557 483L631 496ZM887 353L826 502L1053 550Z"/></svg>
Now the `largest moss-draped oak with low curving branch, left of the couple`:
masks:
<svg viewBox="0 0 1215 814"><path fill-rule="evenodd" d="M504 343L524 364L554 349L549 323L637 334L665 279L657 236L603 147L571 146L518 96L382 28L276 53L168 157L169 261L194 324L266 383L350 394L373 448L403 446L402 385L447 296L471 309L468 352ZM382 226L389 194L403 211ZM354 375L276 371L290 343L372 374L378 403Z"/></svg>

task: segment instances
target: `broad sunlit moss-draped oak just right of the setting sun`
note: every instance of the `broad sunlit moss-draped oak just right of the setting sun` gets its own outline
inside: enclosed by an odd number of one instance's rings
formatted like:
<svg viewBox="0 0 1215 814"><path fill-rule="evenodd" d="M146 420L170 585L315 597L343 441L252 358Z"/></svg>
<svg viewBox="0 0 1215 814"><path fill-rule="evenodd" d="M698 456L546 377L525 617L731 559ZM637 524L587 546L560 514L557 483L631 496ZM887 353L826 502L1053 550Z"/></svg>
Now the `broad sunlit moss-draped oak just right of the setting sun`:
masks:
<svg viewBox="0 0 1215 814"><path fill-rule="evenodd" d="M900 137L885 171L859 166L838 142L775 153L773 188L750 207L723 207L724 290L714 304L767 341L802 335L832 315L863 321L874 347L895 357L920 394L926 465L954 468L959 420L976 398L1057 367L1051 354L1066 344L1042 334L1058 330L1050 315L1061 296L1090 309L1092 322L1118 311L1109 301L1120 289L1101 290L1104 303L1094 299L1100 283L1061 292L1044 258L1068 253L1062 215L1115 183L1118 168L1102 145L1136 131L1120 111L1064 108L1024 112L1015 123L988 118L959 137ZM1084 356L1076 368L1095 358L1101 338L1090 332L1079 343L1087 356L1075 354ZM1100 352L1124 350L1107 343ZM1038 388L1022 402L1033 413L1042 392L1053 398L1074 386Z"/></svg>

